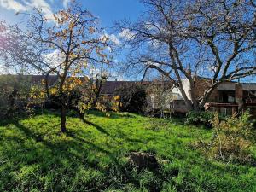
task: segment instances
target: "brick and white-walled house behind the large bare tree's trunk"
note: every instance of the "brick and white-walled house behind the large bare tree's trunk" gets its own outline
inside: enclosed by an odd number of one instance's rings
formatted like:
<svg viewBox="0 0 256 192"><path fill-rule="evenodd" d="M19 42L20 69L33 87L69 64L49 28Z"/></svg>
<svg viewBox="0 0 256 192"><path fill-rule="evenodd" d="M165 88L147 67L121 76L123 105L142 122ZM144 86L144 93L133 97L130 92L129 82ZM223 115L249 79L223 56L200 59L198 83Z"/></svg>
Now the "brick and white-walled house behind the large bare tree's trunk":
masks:
<svg viewBox="0 0 256 192"><path fill-rule="evenodd" d="M195 97L199 99L203 96L204 91L211 84L211 79L196 77L195 79ZM190 99L189 80L183 79L183 88ZM183 96L177 87L172 88L172 94L178 99L171 102L171 110L173 113L186 113L185 102ZM205 104L205 110L218 111L219 113L232 114L241 110L250 109L253 115L256 115L256 84L255 83L238 83L226 81L219 84L212 91Z"/></svg>

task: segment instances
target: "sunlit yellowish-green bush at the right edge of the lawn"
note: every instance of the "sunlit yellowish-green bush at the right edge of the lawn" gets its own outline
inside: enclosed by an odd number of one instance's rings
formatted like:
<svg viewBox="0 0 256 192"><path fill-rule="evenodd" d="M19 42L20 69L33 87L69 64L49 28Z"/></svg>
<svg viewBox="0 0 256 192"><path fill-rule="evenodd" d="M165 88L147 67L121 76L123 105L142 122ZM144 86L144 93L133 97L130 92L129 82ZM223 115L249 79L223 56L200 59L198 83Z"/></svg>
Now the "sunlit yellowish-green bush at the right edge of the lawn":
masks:
<svg viewBox="0 0 256 192"><path fill-rule="evenodd" d="M240 117L234 114L230 119L220 121L218 114L212 120L214 135L210 143L201 143L203 150L209 158L245 164L256 163L252 154L256 132L250 121L248 112Z"/></svg>

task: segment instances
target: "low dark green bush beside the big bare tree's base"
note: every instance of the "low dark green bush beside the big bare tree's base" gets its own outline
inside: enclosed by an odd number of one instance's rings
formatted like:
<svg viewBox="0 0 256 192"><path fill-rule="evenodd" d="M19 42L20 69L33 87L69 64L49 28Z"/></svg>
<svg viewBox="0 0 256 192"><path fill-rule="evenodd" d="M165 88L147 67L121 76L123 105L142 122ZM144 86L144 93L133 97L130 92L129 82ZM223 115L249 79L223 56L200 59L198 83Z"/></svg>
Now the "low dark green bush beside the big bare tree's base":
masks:
<svg viewBox="0 0 256 192"><path fill-rule="evenodd" d="M212 112L195 112L191 111L186 115L186 123L192 125L204 125L207 128L212 128L212 119L214 113Z"/></svg>

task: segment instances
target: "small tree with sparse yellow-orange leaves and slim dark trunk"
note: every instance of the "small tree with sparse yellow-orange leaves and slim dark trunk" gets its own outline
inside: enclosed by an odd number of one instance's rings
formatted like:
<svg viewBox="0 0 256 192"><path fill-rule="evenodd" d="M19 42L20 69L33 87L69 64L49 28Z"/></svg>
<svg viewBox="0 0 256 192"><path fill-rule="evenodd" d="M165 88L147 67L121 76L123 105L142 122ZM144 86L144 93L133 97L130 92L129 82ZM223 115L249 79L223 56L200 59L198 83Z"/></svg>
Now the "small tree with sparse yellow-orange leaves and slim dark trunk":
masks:
<svg viewBox="0 0 256 192"><path fill-rule="evenodd" d="M45 18L40 9L30 15L28 32L15 32L18 41L8 42L6 61L37 69L45 77L58 77L57 91L61 100L61 131L66 129L67 95L78 77L93 64L108 64L108 37L102 36L95 16L78 3ZM7 54L8 53L8 54ZM8 62L11 63L11 62ZM46 78L47 79L47 78Z"/></svg>

